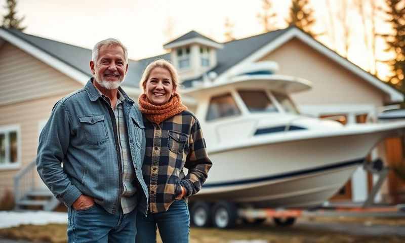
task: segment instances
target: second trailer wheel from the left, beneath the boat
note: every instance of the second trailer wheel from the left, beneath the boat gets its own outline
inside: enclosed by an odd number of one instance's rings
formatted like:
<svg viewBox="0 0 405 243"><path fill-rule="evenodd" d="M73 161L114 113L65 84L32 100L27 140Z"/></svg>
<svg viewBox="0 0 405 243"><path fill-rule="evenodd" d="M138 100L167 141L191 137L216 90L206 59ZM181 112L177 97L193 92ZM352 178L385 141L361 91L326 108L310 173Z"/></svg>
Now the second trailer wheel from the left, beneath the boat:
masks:
<svg viewBox="0 0 405 243"><path fill-rule="evenodd" d="M237 219L237 208L227 201L219 201L212 210L212 219L217 228L233 228Z"/></svg>

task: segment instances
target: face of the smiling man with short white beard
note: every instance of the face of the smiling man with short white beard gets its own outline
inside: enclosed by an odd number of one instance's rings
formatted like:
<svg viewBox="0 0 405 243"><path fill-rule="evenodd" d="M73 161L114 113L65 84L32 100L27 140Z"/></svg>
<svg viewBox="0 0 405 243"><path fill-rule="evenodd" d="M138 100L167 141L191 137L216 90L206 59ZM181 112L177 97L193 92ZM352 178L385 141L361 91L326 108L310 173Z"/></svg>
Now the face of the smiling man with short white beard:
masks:
<svg viewBox="0 0 405 243"><path fill-rule="evenodd" d="M100 86L108 90L118 89L128 71L124 50L117 45L102 46L97 60L90 61L90 68Z"/></svg>

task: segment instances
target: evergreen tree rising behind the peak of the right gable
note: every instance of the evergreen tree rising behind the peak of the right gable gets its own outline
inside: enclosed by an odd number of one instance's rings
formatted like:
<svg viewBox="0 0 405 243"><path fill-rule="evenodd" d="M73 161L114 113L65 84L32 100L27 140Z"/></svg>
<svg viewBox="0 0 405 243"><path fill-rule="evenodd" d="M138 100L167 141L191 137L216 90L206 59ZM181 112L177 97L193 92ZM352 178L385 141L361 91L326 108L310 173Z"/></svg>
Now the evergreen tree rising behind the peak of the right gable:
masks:
<svg viewBox="0 0 405 243"><path fill-rule="evenodd" d="M287 19L289 26L295 25L303 31L315 37L316 34L311 31L315 23L313 10L309 6L308 0L292 0L290 7L290 17Z"/></svg>

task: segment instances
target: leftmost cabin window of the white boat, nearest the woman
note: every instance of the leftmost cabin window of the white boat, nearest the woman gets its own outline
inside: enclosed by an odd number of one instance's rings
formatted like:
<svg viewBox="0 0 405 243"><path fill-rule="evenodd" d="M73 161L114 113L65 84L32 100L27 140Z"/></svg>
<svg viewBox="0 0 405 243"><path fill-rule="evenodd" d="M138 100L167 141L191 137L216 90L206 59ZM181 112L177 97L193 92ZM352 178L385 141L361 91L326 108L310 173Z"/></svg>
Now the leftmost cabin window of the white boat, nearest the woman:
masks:
<svg viewBox="0 0 405 243"><path fill-rule="evenodd" d="M222 117L239 115L240 110L236 106L231 94L214 96L211 98L207 112L207 120L214 120Z"/></svg>

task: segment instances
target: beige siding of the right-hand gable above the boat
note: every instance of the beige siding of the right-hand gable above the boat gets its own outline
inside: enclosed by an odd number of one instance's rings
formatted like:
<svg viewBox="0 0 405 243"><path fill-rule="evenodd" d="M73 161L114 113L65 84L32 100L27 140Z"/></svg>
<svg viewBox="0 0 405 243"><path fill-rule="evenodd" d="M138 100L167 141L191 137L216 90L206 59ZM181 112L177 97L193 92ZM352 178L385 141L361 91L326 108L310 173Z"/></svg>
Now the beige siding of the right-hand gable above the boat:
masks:
<svg viewBox="0 0 405 243"><path fill-rule="evenodd" d="M276 61L278 74L312 82L310 91L293 95L300 105L367 104L381 106L386 95L373 85L294 38L262 60Z"/></svg>

